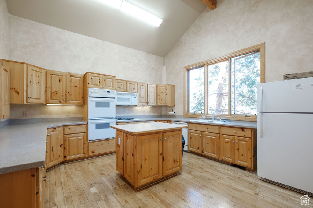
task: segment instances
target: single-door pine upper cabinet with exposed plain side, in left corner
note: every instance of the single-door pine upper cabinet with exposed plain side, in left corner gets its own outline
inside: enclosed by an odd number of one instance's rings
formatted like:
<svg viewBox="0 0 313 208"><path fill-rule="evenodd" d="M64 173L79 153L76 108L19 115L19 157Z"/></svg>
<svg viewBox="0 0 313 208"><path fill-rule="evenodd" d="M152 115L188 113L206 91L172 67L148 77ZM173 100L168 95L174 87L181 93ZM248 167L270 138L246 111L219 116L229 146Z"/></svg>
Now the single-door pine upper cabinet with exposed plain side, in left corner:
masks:
<svg viewBox="0 0 313 208"><path fill-rule="evenodd" d="M8 61L10 103L45 104L46 70L23 62Z"/></svg>

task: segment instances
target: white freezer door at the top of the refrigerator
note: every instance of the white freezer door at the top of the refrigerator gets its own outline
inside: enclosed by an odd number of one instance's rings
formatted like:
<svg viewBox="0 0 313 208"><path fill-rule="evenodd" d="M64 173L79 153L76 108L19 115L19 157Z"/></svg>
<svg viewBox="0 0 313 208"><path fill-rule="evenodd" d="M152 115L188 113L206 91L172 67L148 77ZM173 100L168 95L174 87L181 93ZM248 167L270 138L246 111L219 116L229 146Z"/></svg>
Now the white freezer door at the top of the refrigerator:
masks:
<svg viewBox="0 0 313 208"><path fill-rule="evenodd" d="M313 77L258 84L258 112L313 112Z"/></svg>

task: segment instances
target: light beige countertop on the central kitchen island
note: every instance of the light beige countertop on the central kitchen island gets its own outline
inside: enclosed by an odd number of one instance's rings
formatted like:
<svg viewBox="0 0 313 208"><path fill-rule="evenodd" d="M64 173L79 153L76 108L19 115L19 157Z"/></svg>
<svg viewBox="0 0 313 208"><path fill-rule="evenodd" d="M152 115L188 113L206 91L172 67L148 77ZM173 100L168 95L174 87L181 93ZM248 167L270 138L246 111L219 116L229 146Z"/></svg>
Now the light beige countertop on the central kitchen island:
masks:
<svg viewBox="0 0 313 208"><path fill-rule="evenodd" d="M122 132L127 132L129 134L142 134L142 133L151 133L156 131L166 131L166 130L179 130L182 128L188 127L187 125L179 125L172 123L133 123L126 125L114 125L111 126L116 130L120 130Z"/></svg>

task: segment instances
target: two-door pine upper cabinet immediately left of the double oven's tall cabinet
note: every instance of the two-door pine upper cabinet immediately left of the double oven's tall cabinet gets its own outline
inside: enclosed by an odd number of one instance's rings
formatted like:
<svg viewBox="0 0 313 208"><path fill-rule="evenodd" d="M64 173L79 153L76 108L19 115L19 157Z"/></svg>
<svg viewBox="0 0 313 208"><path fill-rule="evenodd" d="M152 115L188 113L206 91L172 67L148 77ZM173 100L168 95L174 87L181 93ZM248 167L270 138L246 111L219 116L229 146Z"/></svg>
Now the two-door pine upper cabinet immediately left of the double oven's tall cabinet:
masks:
<svg viewBox="0 0 313 208"><path fill-rule="evenodd" d="M84 104L84 75L47 70L47 103Z"/></svg>

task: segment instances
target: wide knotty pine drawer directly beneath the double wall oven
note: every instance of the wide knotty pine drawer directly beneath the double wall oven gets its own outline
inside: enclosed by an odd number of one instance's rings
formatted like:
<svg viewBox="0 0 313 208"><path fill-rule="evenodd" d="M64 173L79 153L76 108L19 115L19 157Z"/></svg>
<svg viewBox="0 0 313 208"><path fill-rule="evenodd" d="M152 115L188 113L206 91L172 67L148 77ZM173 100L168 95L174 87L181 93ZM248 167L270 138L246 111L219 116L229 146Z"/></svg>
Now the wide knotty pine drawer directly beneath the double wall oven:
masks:
<svg viewBox="0 0 313 208"><path fill-rule="evenodd" d="M115 138L100 142L89 143L88 155L97 155L115 151Z"/></svg>

